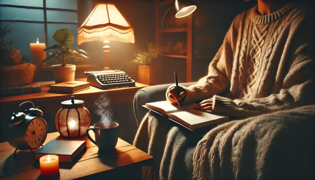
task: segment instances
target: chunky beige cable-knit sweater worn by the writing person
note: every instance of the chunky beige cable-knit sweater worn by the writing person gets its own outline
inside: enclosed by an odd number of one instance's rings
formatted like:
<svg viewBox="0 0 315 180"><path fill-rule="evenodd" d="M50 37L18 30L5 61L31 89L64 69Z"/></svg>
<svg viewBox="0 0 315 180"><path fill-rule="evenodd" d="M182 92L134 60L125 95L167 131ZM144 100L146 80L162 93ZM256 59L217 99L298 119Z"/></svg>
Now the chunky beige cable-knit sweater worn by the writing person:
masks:
<svg viewBox="0 0 315 180"><path fill-rule="evenodd" d="M315 32L310 29L306 13L293 3L271 15L259 15L257 5L241 13L208 75L188 88L180 86L186 91L181 103L213 97L213 112L238 118L314 104Z"/></svg>

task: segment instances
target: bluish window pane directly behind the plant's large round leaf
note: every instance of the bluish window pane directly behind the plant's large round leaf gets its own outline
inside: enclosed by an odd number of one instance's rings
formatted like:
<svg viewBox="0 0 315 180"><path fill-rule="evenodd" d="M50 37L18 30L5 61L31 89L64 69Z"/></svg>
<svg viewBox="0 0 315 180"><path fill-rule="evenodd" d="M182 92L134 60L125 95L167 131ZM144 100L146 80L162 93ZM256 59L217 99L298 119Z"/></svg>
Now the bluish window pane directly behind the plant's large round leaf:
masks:
<svg viewBox="0 0 315 180"><path fill-rule="evenodd" d="M77 32L78 26L76 24L47 24L49 46L56 44L56 42L52 36L54 35L54 32L57 29L61 29L61 28L66 28L66 29L69 29L71 31L71 33L74 36L74 41L73 41L73 44L71 45L72 49L79 49L78 32Z"/></svg>

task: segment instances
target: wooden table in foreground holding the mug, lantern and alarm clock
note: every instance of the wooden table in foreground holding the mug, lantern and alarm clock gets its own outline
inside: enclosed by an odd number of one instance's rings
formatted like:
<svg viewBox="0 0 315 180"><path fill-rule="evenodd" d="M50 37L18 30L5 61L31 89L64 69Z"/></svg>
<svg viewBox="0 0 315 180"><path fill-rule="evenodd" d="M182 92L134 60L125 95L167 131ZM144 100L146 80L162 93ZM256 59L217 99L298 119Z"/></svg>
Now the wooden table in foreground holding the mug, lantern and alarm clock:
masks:
<svg viewBox="0 0 315 180"><path fill-rule="evenodd" d="M94 138L94 133L90 135ZM63 140L58 132L49 133L45 143L53 139ZM135 146L118 138L116 150L98 153L98 148L85 136L87 148L71 163L59 163L60 175L49 179L141 179L141 167L153 163L153 157ZM35 180L47 179L40 176L39 161L31 151L13 154L8 142L0 143L0 179Z"/></svg>

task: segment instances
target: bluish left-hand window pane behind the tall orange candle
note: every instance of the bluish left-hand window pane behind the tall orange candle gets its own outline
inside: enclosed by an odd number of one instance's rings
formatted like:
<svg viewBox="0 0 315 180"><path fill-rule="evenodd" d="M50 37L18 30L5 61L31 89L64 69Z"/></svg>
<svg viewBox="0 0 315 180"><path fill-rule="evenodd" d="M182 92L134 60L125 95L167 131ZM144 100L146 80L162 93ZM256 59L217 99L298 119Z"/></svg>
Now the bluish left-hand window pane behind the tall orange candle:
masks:
<svg viewBox="0 0 315 180"><path fill-rule="evenodd" d="M2 28L6 25L9 25L11 29L8 38L15 39L14 47L21 51L21 55L24 55L22 61L31 62L30 43L36 43L37 38L40 43L45 43L44 24L0 21Z"/></svg>

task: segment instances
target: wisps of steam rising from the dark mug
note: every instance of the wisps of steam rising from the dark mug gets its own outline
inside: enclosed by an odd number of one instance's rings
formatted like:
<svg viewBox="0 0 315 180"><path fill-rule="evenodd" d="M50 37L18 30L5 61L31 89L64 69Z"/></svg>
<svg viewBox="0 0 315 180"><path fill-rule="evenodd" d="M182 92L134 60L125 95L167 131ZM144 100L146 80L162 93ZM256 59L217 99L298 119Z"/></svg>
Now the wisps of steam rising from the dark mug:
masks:
<svg viewBox="0 0 315 180"><path fill-rule="evenodd" d="M106 97L106 94L100 96L100 98L94 102L98 107L94 110L94 113L100 117L100 122L106 127L109 126L109 122L112 122L113 119L113 111L109 107L109 102L109 98Z"/></svg>

